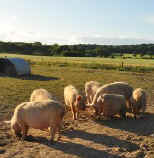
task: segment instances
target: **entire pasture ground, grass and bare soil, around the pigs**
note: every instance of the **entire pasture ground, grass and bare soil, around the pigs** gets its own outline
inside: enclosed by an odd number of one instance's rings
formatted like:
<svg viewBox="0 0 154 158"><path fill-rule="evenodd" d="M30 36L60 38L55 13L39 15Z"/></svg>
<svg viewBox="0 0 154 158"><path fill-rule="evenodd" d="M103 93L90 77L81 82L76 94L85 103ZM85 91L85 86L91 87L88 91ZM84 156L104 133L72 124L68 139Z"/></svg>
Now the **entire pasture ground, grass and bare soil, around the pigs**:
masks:
<svg viewBox="0 0 154 158"><path fill-rule="evenodd" d="M14 107L28 101L36 88L45 88L62 103L63 90L73 84L84 93L86 81L102 84L125 81L148 93L148 108L143 119L94 120L91 110L82 111L78 124L69 111L64 118L61 141L48 143L48 133L31 129L33 141L13 138L9 125L0 122L0 157L2 158L147 158L154 157L154 64L145 59L104 59L19 56L31 63L29 77L0 76L0 120L9 120ZM124 67L120 69L122 62ZM121 70L121 71L119 71Z"/></svg>

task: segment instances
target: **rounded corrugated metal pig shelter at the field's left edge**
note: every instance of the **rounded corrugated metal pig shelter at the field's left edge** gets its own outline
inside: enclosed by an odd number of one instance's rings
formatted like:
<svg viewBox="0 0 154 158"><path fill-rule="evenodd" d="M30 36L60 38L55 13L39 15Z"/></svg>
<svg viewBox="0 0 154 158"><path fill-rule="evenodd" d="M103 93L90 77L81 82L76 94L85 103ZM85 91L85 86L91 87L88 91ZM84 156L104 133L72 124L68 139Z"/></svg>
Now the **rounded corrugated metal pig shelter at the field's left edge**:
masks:
<svg viewBox="0 0 154 158"><path fill-rule="evenodd" d="M30 65L22 58L0 58L0 73L8 76L29 75Z"/></svg>

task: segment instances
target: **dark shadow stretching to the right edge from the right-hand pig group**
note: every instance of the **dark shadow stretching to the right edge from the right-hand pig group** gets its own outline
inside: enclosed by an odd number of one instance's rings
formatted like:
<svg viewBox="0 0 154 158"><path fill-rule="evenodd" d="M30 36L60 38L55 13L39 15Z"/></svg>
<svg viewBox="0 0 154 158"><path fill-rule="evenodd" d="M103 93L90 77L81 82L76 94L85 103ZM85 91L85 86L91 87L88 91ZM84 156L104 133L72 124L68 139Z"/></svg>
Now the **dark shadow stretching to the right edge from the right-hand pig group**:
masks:
<svg viewBox="0 0 154 158"><path fill-rule="evenodd" d="M154 114L151 113L145 113L143 118L136 120L127 118L127 120L95 120L95 122L110 128L133 132L137 135L147 136L154 133Z"/></svg>

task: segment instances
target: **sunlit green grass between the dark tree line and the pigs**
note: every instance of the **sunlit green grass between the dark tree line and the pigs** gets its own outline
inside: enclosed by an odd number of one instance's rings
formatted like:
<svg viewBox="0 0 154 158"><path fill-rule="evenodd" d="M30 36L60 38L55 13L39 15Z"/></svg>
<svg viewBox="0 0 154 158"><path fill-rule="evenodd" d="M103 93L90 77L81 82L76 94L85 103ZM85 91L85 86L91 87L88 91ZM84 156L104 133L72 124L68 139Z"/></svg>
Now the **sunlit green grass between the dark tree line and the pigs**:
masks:
<svg viewBox="0 0 154 158"><path fill-rule="evenodd" d="M43 87L53 92L60 99L63 98L63 88L68 84L74 84L82 92L84 84L89 80L97 80L102 84L113 81L126 81L134 87L143 87L151 93L153 83L152 72L138 73L131 71L118 71L117 69L102 69L99 64L125 65L133 67L142 66L154 68L153 60L143 59L104 59L104 58L69 58L69 57L45 57L14 54L0 54L0 57L21 57L31 63L32 76L25 78L1 77L0 96L4 97L3 104L12 106L21 101L28 100L35 88ZM83 64L84 66L81 66ZM86 66L89 64L89 67ZM93 65L97 67L93 68ZM115 66L116 67L116 66ZM5 83L5 84L4 84ZM10 97L12 99L10 99ZM11 102L10 102L11 100ZM2 108L2 107L1 107ZM7 109L5 109L7 110Z"/></svg>

